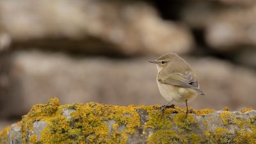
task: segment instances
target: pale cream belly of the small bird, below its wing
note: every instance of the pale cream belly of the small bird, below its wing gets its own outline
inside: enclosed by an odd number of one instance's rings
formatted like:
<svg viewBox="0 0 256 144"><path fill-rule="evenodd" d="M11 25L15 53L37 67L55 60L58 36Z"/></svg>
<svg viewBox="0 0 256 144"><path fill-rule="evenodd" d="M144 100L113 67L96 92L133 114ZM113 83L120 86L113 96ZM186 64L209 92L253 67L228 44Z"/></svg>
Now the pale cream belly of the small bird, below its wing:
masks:
<svg viewBox="0 0 256 144"><path fill-rule="evenodd" d="M197 96L197 93L190 88L180 88L159 82L157 82L157 85L161 95L169 102L183 103L186 100L189 102Z"/></svg>

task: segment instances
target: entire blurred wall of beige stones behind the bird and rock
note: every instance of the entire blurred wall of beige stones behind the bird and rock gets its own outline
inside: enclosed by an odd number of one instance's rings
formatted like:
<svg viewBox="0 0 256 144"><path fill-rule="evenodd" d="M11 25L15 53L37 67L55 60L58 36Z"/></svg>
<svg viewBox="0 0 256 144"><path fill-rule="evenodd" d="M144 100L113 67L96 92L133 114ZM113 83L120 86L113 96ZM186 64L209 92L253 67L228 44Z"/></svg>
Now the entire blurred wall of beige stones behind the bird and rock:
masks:
<svg viewBox="0 0 256 144"><path fill-rule="evenodd" d="M0 1L0 129L36 103L166 104L154 60L176 52L207 93L189 106L256 104L256 2Z"/></svg>

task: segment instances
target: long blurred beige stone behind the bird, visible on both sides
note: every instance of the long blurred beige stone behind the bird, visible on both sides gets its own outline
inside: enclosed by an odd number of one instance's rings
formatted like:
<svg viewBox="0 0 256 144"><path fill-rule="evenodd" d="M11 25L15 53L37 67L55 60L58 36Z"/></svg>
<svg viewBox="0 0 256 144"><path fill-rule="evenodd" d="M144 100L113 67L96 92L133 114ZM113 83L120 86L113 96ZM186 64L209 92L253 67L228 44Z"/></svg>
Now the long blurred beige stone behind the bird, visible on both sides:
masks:
<svg viewBox="0 0 256 144"><path fill-rule="evenodd" d="M13 52L9 90L1 102L1 116L20 116L51 97L61 102L105 104L166 104L156 84L156 67L148 60L74 58L60 53ZM198 75L206 96L193 108L230 109L255 106L256 76L252 70L214 58L186 58ZM13 107L15 106L15 107ZM67 115L68 116L68 115Z"/></svg>

